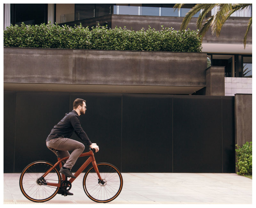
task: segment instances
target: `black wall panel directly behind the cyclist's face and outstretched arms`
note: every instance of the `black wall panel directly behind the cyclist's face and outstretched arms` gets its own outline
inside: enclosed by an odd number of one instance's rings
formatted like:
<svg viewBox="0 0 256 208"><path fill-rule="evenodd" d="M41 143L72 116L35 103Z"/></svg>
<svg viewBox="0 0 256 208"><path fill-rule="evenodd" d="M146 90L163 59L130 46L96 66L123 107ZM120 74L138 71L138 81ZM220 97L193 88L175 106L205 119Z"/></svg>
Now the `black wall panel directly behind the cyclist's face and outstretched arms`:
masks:
<svg viewBox="0 0 256 208"><path fill-rule="evenodd" d="M85 115L79 120L92 143L97 143L100 151L95 154L96 161L114 164L121 170L121 95L97 94L97 93L76 93L70 94L70 106L76 98L86 100ZM72 139L80 141L73 134ZM85 150L88 150L85 144ZM79 158L74 170L82 165L83 158Z"/></svg>

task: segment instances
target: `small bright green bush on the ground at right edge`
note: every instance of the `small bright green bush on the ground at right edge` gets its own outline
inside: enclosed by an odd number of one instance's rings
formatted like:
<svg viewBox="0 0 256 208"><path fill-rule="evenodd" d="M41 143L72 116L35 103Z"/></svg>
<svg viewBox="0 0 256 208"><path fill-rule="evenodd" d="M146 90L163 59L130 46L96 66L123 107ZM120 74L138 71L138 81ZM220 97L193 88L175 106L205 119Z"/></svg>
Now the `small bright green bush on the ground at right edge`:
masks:
<svg viewBox="0 0 256 208"><path fill-rule="evenodd" d="M236 167L238 175L252 175L252 142L246 142L242 147L236 144Z"/></svg>

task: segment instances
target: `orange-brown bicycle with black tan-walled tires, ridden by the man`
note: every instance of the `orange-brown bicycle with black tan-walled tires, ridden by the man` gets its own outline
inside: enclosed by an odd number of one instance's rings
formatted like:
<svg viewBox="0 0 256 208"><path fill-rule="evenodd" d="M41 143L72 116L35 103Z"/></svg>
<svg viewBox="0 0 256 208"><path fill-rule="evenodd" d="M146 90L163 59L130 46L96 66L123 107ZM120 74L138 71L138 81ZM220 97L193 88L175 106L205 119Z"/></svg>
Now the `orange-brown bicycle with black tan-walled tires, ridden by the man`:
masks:
<svg viewBox="0 0 256 208"><path fill-rule="evenodd" d="M93 149L94 150L94 149ZM28 164L20 175L20 190L22 194L33 202L46 202L56 196L59 189L63 191L64 196L70 190L75 178L62 175L57 166L62 167L61 162L68 157L60 159L54 165L47 161L36 161ZM94 150L95 151L95 150ZM89 152L82 153L79 157L90 156L84 164L74 174L77 176L90 164L92 167L84 174L83 188L85 194L94 202L107 203L114 200L123 188L123 177L120 171L112 164L96 164L92 149Z"/></svg>

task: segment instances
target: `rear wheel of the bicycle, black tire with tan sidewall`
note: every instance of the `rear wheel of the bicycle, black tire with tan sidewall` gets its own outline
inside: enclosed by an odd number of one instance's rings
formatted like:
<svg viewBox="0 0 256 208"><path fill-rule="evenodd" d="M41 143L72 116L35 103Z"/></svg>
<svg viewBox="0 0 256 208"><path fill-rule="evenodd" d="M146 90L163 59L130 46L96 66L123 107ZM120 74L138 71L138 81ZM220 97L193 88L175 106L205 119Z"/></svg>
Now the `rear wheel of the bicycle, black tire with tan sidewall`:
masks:
<svg viewBox="0 0 256 208"><path fill-rule="evenodd" d="M53 164L47 161L36 161L28 164L20 175L20 190L22 194L33 202L46 202L52 199L59 187L40 185L38 179L47 172ZM59 171L54 168L45 178L44 182L60 183Z"/></svg>

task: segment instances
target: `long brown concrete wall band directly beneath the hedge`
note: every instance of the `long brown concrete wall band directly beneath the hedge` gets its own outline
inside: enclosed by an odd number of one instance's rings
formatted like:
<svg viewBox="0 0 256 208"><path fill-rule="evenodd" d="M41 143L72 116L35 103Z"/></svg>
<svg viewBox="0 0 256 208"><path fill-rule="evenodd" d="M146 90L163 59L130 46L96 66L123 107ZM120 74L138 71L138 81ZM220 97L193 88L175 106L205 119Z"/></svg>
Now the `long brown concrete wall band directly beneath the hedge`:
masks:
<svg viewBox="0 0 256 208"><path fill-rule="evenodd" d="M4 48L4 83L205 86L206 53Z"/></svg>

